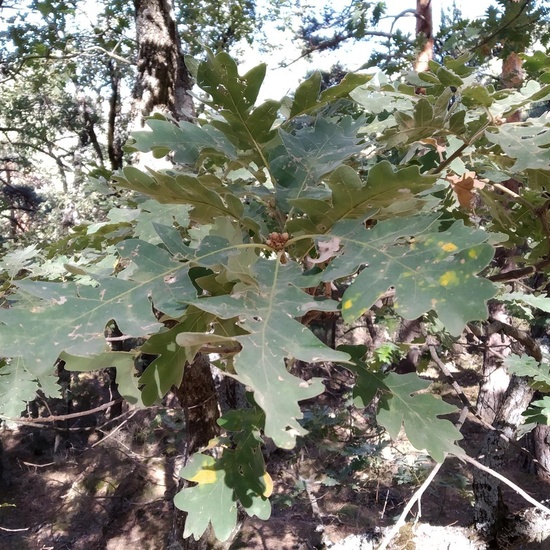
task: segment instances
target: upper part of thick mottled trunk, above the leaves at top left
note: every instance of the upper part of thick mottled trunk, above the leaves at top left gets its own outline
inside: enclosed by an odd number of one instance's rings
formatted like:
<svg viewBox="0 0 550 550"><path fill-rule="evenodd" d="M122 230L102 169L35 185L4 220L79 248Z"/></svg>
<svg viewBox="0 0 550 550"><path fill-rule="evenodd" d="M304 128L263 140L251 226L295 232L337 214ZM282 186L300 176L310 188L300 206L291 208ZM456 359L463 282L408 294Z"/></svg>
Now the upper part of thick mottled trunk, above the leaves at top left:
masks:
<svg viewBox="0 0 550 550"><path fill-rule="evenodd" d="M185 66L181 41L170 0L134 0L138 75L133 91L135 127L158 110L176 120L194 115L193 86Z"/></svg>

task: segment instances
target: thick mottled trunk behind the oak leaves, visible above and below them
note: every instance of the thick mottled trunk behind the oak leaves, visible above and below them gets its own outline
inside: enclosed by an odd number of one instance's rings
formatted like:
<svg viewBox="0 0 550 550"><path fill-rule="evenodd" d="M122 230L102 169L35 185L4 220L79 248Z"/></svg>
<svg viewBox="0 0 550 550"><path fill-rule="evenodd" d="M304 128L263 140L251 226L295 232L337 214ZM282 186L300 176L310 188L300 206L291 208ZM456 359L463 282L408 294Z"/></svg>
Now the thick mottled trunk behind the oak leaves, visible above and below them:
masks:
<svg viewBox="0 0 550 550"><path fill-rule="evenodd" d="M193 83L184 63L171 0L134 0L138 42L137 78L133 90L132 126L139 129L153 111L175 120L194 117ZM206 446L218 433L216 388L207 356L186 365L181 387L175 394L184 409L186 448L184 461ZM174 547L197 550L210 547L207 533L199 541L182 539L184 516L174 507L170 538Z"/></svg>

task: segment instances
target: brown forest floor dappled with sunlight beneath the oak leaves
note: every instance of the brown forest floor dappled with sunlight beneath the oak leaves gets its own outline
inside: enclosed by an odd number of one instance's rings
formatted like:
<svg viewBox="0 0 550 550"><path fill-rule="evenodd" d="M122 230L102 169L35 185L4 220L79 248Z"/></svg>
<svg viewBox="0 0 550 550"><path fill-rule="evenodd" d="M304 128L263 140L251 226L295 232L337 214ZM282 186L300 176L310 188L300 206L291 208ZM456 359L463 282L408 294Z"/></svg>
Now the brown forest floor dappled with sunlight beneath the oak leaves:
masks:
<svg viewBox="0 0 550 550"><path fill-rule="evenodd" d="M310 434L297 448L268 452L271 519L243 518L232 542L220 548L376 548L434 467L404 439L380 433L368 411L336 406L341 400L328 390L306 404ZM71 431L22 425L1 432L0 550L183 548L174 535L181 513L172 504L185 436L181 411L125 409L108 423L104 415L86 417L91 425L81 421ZM483 427L468 421L462 431L464 448L475 455ZM550 496L549 484L521 469L517 450L501 473L537 500ZM422 496L418 522L415 506L389 548L486 548L470 528L471 478L469 466L448 459ZM512 490L504 487L503 494L511 518L533 514ZM550 549L550 521L541 521L546 526L531 528L529 536L503 534L501 547Z"/></svg>

